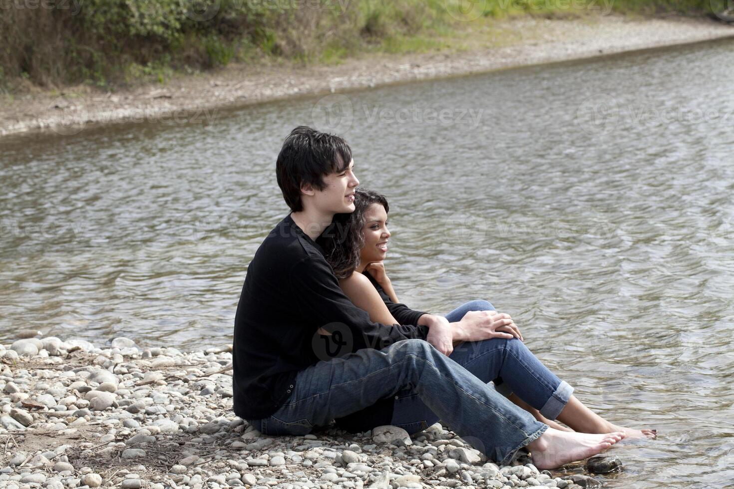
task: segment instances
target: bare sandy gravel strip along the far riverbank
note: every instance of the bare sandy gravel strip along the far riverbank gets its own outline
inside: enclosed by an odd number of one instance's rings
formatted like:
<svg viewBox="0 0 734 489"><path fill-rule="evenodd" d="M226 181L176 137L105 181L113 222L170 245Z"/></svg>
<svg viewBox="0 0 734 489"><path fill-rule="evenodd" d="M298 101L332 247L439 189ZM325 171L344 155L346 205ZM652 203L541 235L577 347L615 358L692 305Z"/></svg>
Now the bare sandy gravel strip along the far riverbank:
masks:
<svg viewBox="0 0 734 489"><path fill-rule="evenodd" d="M507 19L499 25L505 32L520 33L520 40L470 51L361 56L334 66L233 65L215 73L181 76L165 85L146 85L116 93L70 87L61 95L26 95L4 101L0 137L43 134L48 130L70 136L84 128L126 122L214 122L220 111L273 100L734 37L734 26L708 19L674 17L530 17Z"/></svg>

